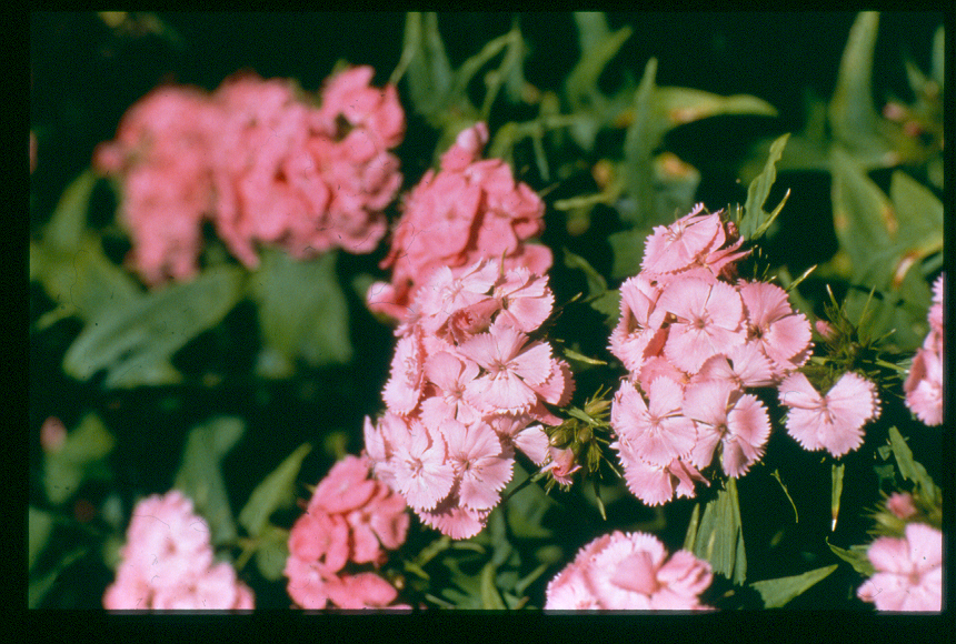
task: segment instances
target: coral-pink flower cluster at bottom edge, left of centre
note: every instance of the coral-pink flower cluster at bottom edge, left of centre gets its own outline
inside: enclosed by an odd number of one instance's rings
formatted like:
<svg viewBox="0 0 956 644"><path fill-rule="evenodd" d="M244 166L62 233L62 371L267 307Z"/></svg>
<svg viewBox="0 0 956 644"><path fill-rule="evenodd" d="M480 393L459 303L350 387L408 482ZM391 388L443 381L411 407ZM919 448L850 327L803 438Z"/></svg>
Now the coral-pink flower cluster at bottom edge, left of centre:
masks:
<svg viewBox="0 0 956 644"><path fill-rule="evenodd" d="M398 591L375 572L346 572L355 564L385 563L408 534L401 496L369 479L366 459L346 456L316 487L306 513L289 533L289 596L303 608L386 607Z"/></svg>

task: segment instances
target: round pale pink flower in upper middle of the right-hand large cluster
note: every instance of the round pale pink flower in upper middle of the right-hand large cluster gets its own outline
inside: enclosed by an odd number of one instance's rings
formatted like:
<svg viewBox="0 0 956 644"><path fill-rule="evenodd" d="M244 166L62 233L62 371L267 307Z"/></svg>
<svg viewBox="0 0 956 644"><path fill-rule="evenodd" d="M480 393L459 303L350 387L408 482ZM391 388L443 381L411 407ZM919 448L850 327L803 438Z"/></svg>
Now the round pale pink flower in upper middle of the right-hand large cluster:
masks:
<svg viewBox="0 0 956 644"><path fill-rule="evenodd" d="M668 284L657 305L677 318L664 352L679 369L694 373L711 355L744 344L744 309L729 284L687 278Z"/></svg>

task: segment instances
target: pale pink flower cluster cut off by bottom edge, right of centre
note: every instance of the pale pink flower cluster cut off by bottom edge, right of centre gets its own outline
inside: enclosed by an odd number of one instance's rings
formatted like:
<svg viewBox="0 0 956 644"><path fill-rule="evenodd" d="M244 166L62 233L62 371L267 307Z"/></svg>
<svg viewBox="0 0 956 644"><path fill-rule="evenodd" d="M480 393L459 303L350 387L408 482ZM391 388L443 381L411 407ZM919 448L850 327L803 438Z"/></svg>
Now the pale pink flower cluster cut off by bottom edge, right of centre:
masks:
<svg viewBox="0 0 956 644"><path fill-rule="evenodd" d="M710 564L686 550L668 556L655 536L616 531L578 551L549 583L545 610L700 611Z"/></svg>

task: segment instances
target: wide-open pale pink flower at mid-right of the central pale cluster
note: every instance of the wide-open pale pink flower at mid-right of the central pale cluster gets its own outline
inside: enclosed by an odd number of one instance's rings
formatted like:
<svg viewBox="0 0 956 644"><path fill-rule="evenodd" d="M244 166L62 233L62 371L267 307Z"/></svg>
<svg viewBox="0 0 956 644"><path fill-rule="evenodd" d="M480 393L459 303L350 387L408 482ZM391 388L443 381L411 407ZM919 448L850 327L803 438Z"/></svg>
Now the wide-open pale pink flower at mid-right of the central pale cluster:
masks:
<svg viewBox="0 0 956 644"><path fill-rule="evenodd" d="M527 412L537 400L532 386L551 374L551 348L501 323L458 348L485 370L465 390L465 400L484 413Z"/></svg>

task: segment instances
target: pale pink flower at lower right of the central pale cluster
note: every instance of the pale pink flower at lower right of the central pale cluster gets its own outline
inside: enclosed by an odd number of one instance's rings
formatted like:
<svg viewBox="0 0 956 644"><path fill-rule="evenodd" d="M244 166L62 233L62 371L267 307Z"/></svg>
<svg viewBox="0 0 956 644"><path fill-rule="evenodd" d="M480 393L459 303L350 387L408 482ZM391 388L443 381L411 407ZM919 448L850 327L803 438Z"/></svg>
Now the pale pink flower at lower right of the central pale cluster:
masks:
<svg viewBox="0 0 956 644"><path fill-rule="evenodd" d="M514 457L501 449L501 441L486 423L478 422L465 432L447 435L448 460L458 479L458 497L466 507L491 510L511 480Z"/></svg>

